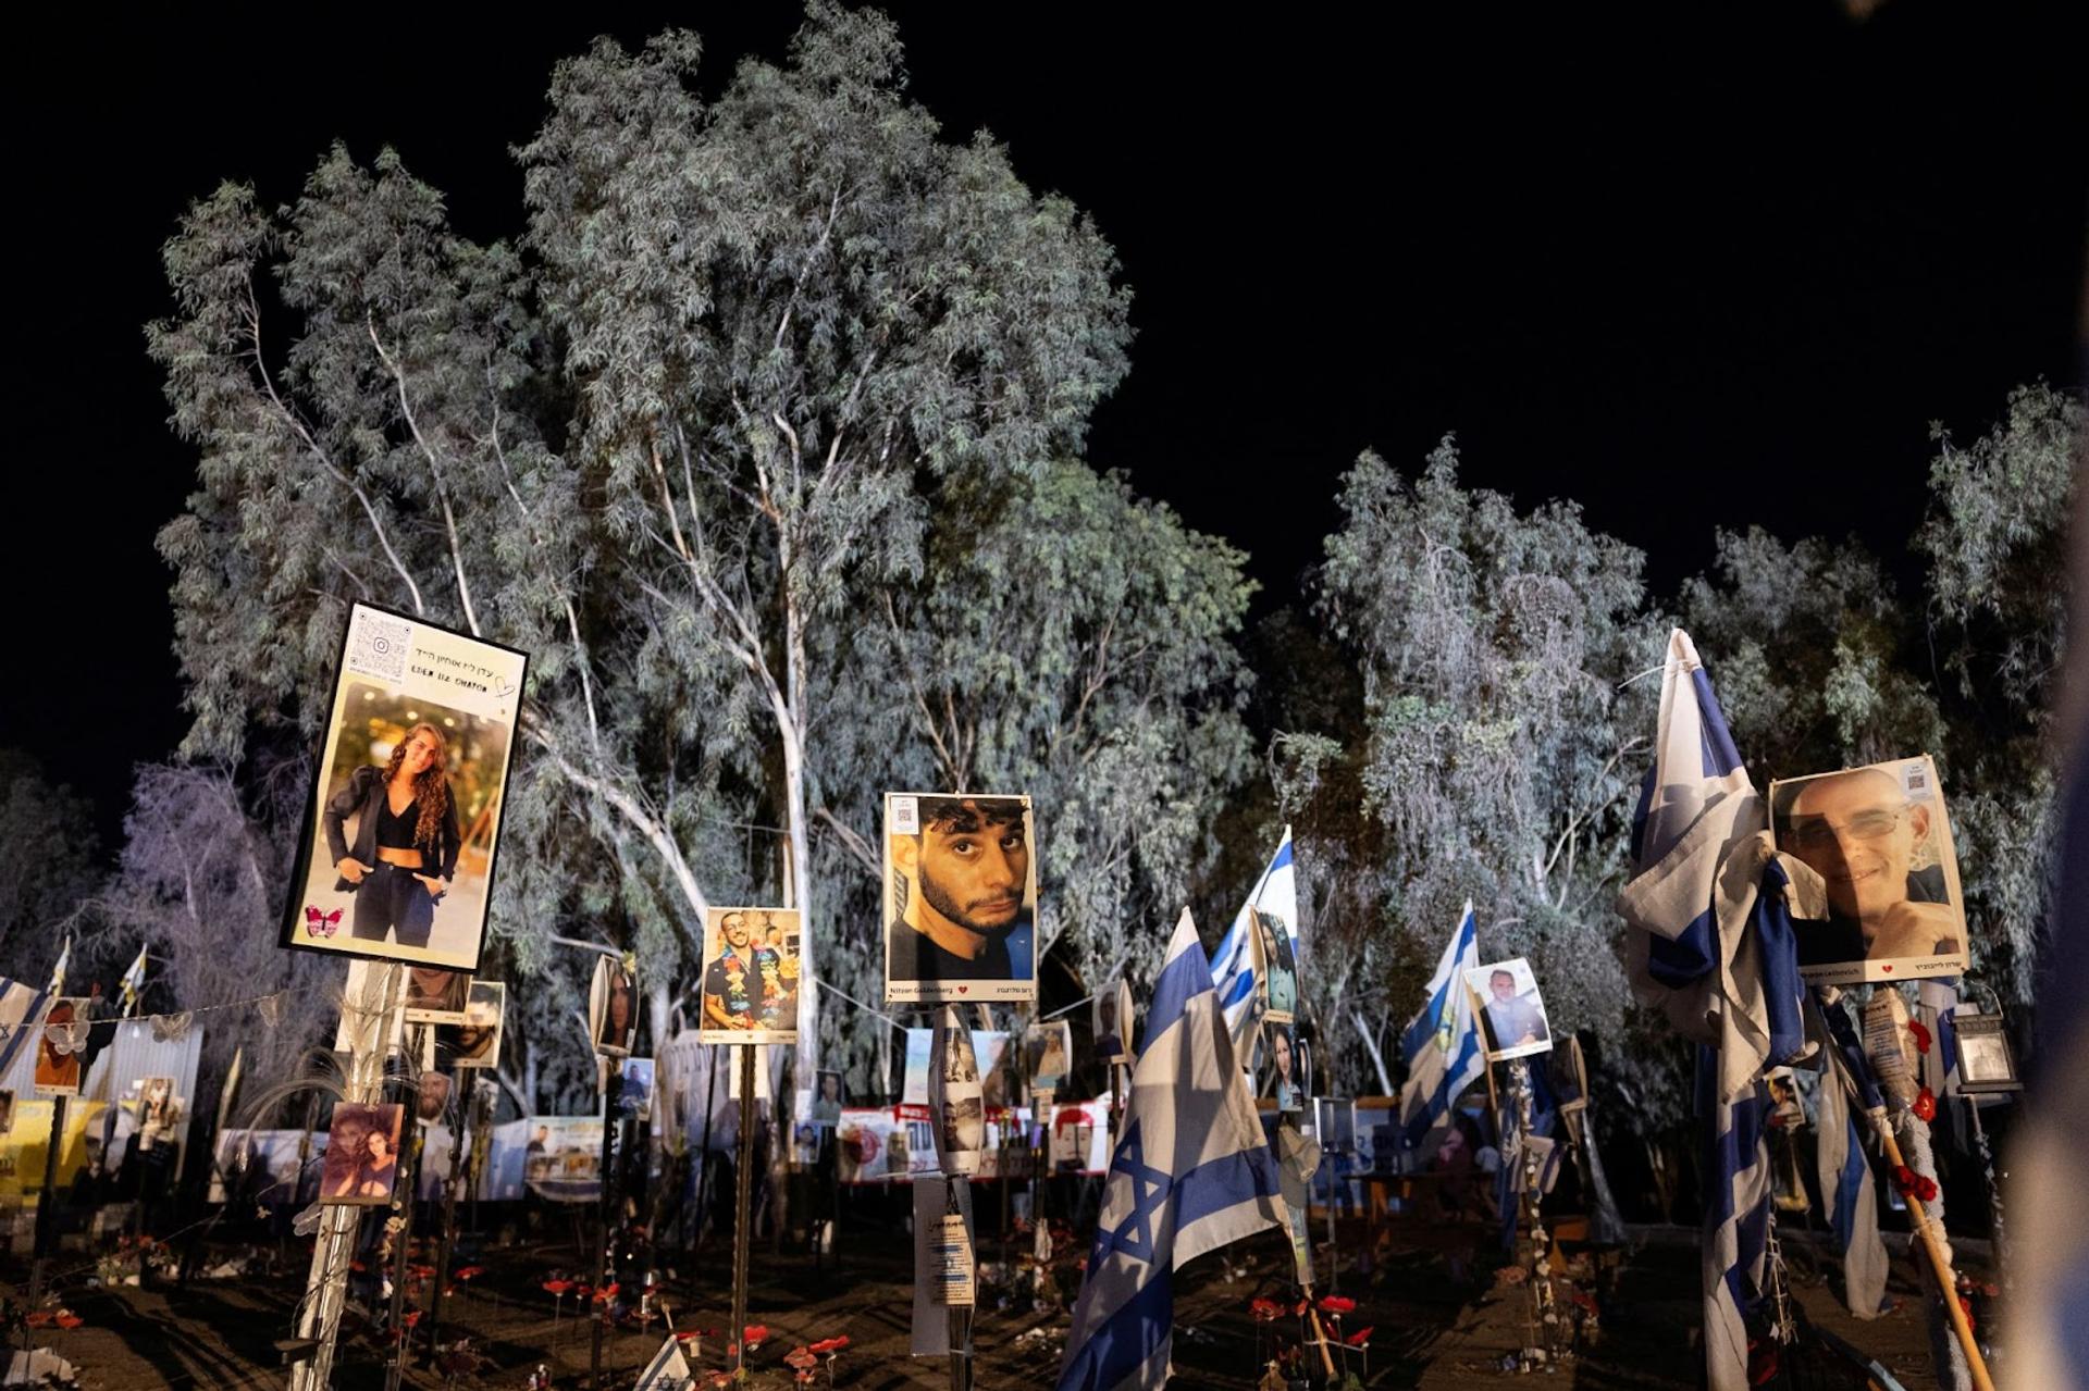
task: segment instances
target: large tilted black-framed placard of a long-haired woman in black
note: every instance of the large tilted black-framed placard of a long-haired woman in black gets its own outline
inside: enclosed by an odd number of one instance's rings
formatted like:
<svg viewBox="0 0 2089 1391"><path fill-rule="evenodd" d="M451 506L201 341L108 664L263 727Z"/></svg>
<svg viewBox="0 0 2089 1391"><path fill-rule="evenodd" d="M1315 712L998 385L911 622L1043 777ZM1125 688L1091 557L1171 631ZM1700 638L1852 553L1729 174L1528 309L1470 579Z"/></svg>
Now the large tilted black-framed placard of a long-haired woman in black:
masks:
<svg viewBox="0 0 2089 1391"><path fill-rule="evenodd" d="M349 608L282 946L474 971L529 656Z"/></svg>

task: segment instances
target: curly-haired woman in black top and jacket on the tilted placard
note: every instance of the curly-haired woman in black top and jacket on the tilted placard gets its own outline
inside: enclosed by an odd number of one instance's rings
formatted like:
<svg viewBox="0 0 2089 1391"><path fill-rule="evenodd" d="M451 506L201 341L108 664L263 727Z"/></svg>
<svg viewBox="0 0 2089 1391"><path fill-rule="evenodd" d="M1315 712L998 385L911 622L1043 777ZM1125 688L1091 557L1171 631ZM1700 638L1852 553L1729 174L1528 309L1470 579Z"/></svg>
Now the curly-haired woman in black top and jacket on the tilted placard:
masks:
<svg viewBox="0 0 2089 1391"><path fill-rule="evenodd" d="M355 819L355 846L347 821ZM361 767L326 802L326 844L355 894L357 938L428 946L435 909L457 873L464 835L449 798L449 741L435 725L414 725L382 767Z"/></svg>

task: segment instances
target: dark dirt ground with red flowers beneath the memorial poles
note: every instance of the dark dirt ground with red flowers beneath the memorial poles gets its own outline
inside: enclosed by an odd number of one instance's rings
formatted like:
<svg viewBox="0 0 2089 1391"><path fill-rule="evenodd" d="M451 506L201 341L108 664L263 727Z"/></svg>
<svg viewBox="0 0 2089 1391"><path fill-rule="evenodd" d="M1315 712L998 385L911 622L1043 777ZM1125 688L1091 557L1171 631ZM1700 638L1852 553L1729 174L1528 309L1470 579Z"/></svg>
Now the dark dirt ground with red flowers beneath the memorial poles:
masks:
<svg viewBox="0 0 2089 1391"><path fill-rule="evenodd" d="M489 1224L480 1236L460 1243L453 1268L480 1266L483 1274L457 1287L441 1339L447 1343L464 1333L485 1362L472 1374L445 1381L422 1351L426 1328L420 1328L418 1355L407 1364L403 1385L520 1389L539 1364L551 1368L558 1387L589 1385L591 1328L574 1318L570 1297L558 1301L541 1289L551 1272L583 1264L572 1232L551 1226L529 1232ZM890 1213L844 1222L842 1230L840 1264L756 1249L750 1318L767 1324L771 1335L750 1358L752 1385L792 1385L792 1370L783 1364L790 1349L846 1335L850 1347L834 1368L836 1385L867 1391L946 1387L942 1360L907 1355L913 1295L905 1232L892 1226ZM1700 1376L1700 1305L1692 1236L1657 1228L1619 1253L1602 1297L1600 1333L1569 1366L1538 1381L1602 1391L1694 1389ZM1337 1282L1358 1307L1345 1316L1343 1328L1349 1335L1370 1328L1368 1353L1352 1351L1347 1370L1366 1387L1435 1391L1531 1383L1502 1370L1504 1353L1512 1355L1525 1341L1529 1295L1500 1284L1483 1249L1471 1264L1460 1259L1460 1270L1452 1268L1441 1243L1433 1251L1387 1255L1372 1266L1360 1259L1360 1230L1345 1241ZM1878 1358L1909 1387L1928 1385L1928 1345L1916 1312L1911 1264L1905 1257L1895 1262L1891 1293L1899 1297L1899 1307L1857 1322L1834 1299L1830 1272L1807 1255L1803 1243L1790 1245L1797 1247L1790 1251L1794 1293L1805 1314ZM169 1280L90 1284L92 1257L75 1253L69 1266L58 1264L58 1287L65 1305L84 1322L71 1330L40 1328L31 1337L36 1345L71 1360L79 1387L88 1391L282 1385L286 1372L274 1341L288 1335L309 1247L297 1239L213 1245L217 1255L240 1251L253 1255L247 1274L198 1278L186 1289ZM999 1259L999 1241L984 1241L980 1255L984 1262ZM729 1268L731 1249L721 1241L675 1264L666 1299L677 1328L717 1330L729 1322ZM23 1274L19 1262L4 1270L10 1282ZM1214 1391L1255 1387L1260 1364L1278 1345L1295 1343L1297 1328L1291 1318L1255 1324L1249 1314L1255 1297L1293 1297L1289 1247L1274 1232L1182 1272L1176 1284L1176 1385ZM1051 1385L1063 1333L1065 1316L1059 1312L982 1307L973 1330L976 1385L982 1391ZM643 1330L608 1330L602 1385L631 1387L662 1337L658 1320ZM723 1366L717 1337L706 1337L702 1347L704 1366ZM389 1353L391 1343L363 1318L351 1316L334 1385L343 1391L382 1387ZM815 1385L825 1385L825 1376ZM1822 1376L1809 1385L1851 1383Z"/></svg>

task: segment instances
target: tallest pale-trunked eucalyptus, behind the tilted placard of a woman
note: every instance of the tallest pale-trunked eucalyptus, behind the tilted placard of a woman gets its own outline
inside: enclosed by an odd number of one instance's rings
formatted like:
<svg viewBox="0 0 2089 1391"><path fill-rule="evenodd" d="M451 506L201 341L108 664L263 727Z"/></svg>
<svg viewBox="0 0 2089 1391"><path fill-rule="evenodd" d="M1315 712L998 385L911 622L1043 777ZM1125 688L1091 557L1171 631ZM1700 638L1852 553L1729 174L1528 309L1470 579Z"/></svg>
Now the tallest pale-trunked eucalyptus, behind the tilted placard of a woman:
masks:
<svg viewBox="0 0 2089 1391"><path fill-rule="evenodd" d="M813 6L710 104L698 52L558 67L522 251L457 236L391 150L332 150L282 211L194 205L150 351L198 491L161 549L188 752L313 735L349 599L526 647L518 959L614 915L687 963L710 902L775 881L742 831L779 823L813 982L852 633L923 576L936 493L1078 449L1126 292L1070 203L938 138L884 17ZM802 1053L815 1019L808 986Z"/></svg>

